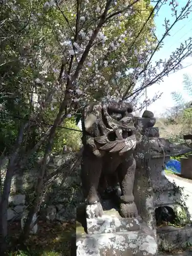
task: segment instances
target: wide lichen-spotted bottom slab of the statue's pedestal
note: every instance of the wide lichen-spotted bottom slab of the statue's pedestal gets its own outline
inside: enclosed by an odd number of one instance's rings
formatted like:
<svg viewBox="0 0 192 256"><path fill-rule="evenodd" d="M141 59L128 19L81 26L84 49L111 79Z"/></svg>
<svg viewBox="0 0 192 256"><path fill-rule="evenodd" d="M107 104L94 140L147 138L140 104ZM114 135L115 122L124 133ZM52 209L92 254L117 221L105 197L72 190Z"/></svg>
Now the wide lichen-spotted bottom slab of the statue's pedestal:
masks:
<svg viewBox="0 0 192 256"><path fill-rule="evenodd" d="M138 231L87 234L76 226L76 256L155 256L158 248L153 230L141 224Z"/></svg>

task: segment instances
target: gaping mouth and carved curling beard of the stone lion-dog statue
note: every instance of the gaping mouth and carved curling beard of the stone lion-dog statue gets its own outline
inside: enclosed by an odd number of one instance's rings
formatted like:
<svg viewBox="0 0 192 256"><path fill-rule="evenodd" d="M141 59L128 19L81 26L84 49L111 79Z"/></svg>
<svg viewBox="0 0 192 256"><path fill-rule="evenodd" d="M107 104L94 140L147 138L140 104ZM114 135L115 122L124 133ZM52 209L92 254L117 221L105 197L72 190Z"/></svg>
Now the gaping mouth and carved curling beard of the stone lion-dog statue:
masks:
<svg viewBox="0 0 192 256"><path fill-rule="evenodd" d="M136 147L136 137L131 129L116 129L107 135L96 137L95 141L100 144L99 150L119 154L130 151Z"/></svg>

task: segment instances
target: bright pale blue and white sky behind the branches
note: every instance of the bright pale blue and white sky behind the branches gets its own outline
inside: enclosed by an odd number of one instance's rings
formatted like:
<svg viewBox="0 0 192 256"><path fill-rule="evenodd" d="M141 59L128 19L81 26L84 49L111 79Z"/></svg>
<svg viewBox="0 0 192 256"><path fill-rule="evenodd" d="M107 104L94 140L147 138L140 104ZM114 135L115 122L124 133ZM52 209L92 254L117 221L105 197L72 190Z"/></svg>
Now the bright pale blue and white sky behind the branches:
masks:
<svg viewBox="0 0 192 256"><path fill-rule="evenodd" d="M181 8L186 5L187 0L178 0L178 8ZM156 35L158 39L161 38L161 35L164 32L164 18L170 19L170 24L172 24L172 10L169 6L169 1L166 5L162 6L158 12L158 16L155 16L156 24ZM184 40L192 36L192 13L188 15L188 18L180 20L175 27L173 27L170 36L167 36L164 39L164 46L158 51L153 59L152 63L156 60L168 59L170 54L175 51ZM154 62L155 63L155 62ZM191 66L189 66L191 65ZM183 68L173 74L170 74L168 77L164 78L164 81L160 84L154 84L152 87L147 88L147 97L152 98L155 93L163 92L160 99L148 106L148 110L154 112L156 116L162 115L166 109L170 109L174 106L174 100L172 99L171 92L176 91L180 92L183 95L183 98L186 101L192 100L187 93L183 90L183 74L188 74L192 76L192 57L187 57L183 62ZM189 66L189 67L187 67Z"/></svg>

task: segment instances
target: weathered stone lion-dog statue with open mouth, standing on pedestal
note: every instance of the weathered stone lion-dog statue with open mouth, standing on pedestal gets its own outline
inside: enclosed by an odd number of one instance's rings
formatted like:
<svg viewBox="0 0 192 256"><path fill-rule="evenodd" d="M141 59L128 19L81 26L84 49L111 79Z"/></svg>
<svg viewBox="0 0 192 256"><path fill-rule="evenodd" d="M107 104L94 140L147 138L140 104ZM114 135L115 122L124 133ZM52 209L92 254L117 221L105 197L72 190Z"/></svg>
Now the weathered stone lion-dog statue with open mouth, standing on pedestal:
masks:
<svg viewBox="0 0 192 256"><path fill-rule="evenodd" d="M94 209L91 217L102 215L98 189L104 177L119 181L121 216L138 215L133 196L136 128L132 112L132 106L123 102L90 103L83 110L81 181L86 203Z"/></svg>

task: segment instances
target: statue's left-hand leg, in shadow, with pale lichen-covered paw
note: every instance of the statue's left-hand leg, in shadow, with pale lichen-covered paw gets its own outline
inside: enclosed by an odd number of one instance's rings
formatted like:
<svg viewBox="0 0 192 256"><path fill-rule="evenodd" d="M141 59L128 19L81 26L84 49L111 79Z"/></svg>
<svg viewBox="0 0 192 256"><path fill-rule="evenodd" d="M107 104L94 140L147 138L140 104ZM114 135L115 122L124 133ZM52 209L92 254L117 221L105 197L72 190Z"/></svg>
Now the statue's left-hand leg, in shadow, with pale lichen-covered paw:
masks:
<svg viewBox="0 0 192 256"><path fill-rule="evenodd" d="M98 184L101 169L102 158L96 157L90 152L83 151L81 162L81 182L89 218L102 215L102 206L98 197Z"/></svg>

